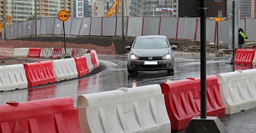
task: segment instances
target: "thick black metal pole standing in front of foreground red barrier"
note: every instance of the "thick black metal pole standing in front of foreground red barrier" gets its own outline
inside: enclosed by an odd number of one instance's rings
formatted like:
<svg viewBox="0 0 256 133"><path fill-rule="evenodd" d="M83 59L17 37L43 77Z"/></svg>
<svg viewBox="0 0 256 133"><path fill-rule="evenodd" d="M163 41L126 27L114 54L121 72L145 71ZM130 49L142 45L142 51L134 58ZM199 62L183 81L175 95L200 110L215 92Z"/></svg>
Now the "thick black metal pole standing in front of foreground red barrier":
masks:
<svg viewBox="0 0 256 133"><path fill-rule="evenodd" d="M206 118L206 0L200 0L200 118Z"/></svg>

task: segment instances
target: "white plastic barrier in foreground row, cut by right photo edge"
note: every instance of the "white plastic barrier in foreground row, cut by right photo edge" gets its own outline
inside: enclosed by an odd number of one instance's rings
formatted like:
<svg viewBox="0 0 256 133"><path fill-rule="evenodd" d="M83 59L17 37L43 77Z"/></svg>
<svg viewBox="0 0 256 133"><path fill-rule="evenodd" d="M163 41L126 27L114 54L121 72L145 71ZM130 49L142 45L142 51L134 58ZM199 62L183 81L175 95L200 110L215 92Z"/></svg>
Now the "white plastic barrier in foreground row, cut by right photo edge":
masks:
<svg viewBox="0 0 256 133"><path fill-rule="evenodd" d="M256 107L256 69L217 74L226 114Z"/></svg>

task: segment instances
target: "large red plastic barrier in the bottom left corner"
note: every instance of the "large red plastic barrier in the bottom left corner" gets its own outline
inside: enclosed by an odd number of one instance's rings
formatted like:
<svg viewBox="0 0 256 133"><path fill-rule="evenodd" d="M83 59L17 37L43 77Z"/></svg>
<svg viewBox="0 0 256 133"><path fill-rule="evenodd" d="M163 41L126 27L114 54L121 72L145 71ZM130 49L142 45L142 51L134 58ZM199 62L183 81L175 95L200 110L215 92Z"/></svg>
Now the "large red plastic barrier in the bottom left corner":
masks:
<svg viewBox="0 0 256 133"><path fill-rule="evenodd" d="M1 133L81 133L71 97L0 105Z"/></svg>

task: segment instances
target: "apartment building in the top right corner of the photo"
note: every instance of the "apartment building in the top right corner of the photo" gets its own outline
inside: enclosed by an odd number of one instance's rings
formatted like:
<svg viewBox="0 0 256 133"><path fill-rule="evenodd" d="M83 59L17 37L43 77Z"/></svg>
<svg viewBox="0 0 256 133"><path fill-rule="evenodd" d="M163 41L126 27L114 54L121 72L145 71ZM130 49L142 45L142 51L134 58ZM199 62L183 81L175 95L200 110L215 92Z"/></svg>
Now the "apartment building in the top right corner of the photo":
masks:
<svg viewBox="0 0 256 133"><path fill-rule="evenodd" d="M256 17L256 1L255 0L240 0L239 18L255 18Z"/></svg>

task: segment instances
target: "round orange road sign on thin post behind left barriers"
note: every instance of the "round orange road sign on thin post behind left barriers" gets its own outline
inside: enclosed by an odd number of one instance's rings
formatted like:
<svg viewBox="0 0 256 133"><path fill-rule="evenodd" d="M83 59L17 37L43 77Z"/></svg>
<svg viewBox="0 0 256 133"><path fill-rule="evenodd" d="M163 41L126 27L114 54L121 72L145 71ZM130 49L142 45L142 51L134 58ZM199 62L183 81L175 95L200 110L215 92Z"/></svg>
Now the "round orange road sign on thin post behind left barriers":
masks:
<svg viewBox="0 0 256 133"><path fill-rule="evenodd" d="M61 10L58 13L58 18L60 21L63 22L63 33L64 33L64 50L65 53L61 55L61 59L69 59L71 58L71 54L67 54L67 50L66 50L66 33L65 33L65 21L67 21L67 19L69 18L69 14L67 13L66 10Z"/></svg>

